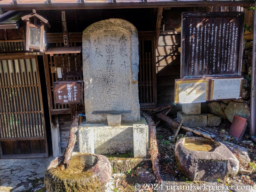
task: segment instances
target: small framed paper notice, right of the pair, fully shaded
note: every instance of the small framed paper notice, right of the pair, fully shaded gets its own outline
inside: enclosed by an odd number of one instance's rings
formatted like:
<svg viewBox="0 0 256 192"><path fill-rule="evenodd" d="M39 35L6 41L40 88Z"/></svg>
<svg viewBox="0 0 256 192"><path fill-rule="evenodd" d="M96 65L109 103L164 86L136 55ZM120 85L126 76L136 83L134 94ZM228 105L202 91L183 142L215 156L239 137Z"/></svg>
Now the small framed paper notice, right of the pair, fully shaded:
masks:
<svg viewBox="0 0 256 192"><path fill-rule="evenodd" d="M210 81L210 101L240 99L243 77L216 77Z"/></svg>

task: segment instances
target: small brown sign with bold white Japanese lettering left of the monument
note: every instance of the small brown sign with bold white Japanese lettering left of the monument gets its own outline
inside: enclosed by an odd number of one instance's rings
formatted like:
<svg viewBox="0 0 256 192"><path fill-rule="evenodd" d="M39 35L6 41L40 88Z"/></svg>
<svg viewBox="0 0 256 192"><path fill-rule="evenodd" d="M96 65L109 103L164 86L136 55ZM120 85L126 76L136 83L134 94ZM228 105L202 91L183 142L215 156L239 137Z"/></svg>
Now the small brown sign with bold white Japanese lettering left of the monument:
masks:
<svg viewBox="0 0 256 192"><path fill-rule="evenodd" d="M83 80L54 82L54 104L82 104Z"/></svg>

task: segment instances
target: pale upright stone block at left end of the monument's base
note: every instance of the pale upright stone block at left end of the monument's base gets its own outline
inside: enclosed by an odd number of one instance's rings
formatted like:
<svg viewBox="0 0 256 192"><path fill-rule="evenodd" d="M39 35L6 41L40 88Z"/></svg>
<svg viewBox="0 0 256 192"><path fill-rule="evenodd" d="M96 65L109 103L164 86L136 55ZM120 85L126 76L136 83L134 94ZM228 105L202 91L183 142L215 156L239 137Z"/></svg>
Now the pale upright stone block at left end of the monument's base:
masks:
<svg viewBox="0 0 256 192"><path fill-rule="evenodd" d="M83 153L94 153L94 130L83 127L78 131L78 150Z"/></svg>

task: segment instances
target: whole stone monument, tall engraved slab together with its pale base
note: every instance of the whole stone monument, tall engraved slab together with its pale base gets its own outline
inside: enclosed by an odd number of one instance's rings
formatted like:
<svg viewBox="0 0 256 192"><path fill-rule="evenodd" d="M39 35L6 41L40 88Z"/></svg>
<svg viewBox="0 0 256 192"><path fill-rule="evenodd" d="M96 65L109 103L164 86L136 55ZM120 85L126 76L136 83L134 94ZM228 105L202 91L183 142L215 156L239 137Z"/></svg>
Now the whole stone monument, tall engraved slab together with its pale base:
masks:
<svg viewBox="0 0 256 192"><path fill-rule="evenodd" d="M146 156L137 29L122 19L103 20L87 27L82 39L86 123L79 126L79 151L126 153L133 147L134 156Z"/></svg>

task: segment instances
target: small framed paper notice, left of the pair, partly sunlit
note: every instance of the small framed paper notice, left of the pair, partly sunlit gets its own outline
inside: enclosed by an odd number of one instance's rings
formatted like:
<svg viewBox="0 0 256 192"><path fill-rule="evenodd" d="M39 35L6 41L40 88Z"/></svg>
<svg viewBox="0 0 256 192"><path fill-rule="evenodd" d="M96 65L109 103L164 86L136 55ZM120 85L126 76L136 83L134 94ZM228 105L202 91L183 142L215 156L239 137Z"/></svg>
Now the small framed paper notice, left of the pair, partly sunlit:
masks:
<svg viewBox="0 0 256 192"><path fill-rule="evenodd" d="M201 103L208 101L209 79L175 80L175 103Z"/></svg>

